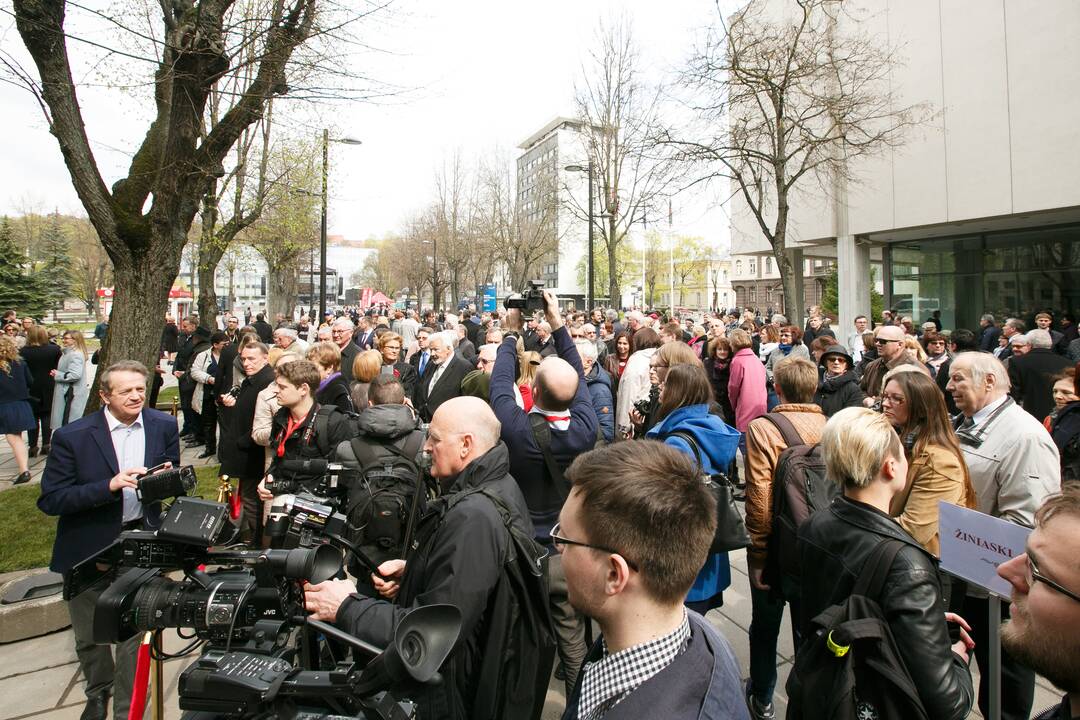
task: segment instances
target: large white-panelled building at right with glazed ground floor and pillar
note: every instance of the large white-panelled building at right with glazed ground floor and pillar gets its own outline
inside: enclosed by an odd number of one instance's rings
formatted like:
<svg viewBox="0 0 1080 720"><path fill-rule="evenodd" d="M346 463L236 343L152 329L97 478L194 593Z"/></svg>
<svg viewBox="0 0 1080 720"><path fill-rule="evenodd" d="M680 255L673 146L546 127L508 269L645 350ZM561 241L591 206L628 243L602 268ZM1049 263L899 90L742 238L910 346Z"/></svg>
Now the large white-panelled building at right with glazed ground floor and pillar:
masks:
<svg viewBox="0 0 1080 720"><path fill-rule="evenodd" d="M853 166L856 182L810 180L793 199L788 250L837 262L840 327L868 311L878 260L887 307L940 310L948 328L1080 310L1080 2L850 5L837 31L859 17L902 47L891 89L934 116ZM733 257L769 252L738 200L732 243Z"/></svg>

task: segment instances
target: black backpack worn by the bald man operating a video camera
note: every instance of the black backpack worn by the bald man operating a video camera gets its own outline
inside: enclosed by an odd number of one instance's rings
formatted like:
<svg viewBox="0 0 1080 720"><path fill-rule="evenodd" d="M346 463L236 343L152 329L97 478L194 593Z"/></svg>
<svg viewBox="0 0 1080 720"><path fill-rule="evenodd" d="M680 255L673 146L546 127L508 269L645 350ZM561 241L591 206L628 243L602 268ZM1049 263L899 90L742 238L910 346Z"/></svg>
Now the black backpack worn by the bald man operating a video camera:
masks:
<svg viewBox="0 0 1080 720"><path fill-rule="evenodd" d="M512 520L507 503L487 488L447 499L443 515L472 494L491 501L507 528L507 560L485 610L473 715L540 720L555 662L555 625L548 602L548 551ZM495 658L495 662L491 662Z"/></svg>

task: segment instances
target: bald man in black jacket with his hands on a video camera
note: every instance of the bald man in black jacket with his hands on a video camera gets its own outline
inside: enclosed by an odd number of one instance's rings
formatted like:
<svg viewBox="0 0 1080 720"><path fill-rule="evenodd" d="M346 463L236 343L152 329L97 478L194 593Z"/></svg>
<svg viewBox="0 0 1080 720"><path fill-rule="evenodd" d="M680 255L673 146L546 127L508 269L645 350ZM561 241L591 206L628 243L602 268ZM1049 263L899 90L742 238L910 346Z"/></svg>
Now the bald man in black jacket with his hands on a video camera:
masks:
<svg viewBox="0 0 1080 720"><path fill-rule="evenodd" d="M461 641L442 667L443 684L414 696L421 719L532 718L543 705L553 641L550 616L536 614L546 611L542 551L531 541L499 431L495 413L476 397L449 399L435 411L424 450L444 494L420 520L416 549L380 566L390 580L373 579L396 603L362 597L349 581L307 588L315 617L376 646L388 643L410 609L449 603L461 611ZM508 566L511 553L515 561ZM531 574L519 571L523 565ZM527 604L514 596L515 581Z"/></svg>

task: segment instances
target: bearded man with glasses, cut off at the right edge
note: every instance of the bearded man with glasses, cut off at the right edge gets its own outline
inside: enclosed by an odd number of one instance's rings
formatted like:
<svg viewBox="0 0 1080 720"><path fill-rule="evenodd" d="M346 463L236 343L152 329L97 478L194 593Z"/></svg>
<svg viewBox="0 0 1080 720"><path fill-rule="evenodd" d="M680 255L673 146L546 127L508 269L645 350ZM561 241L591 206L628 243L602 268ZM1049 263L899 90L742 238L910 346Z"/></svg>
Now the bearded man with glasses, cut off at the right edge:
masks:
<svg viewBox="0 0 1080 720"><path fill-rule="evenodd" d="M1080 712L1080 487L1062 489L1035 514L1027 552L998 566L1012 586L1012 617L1001 644L1013 657L1065 691L1061 705L1036 720Z"/></svg>

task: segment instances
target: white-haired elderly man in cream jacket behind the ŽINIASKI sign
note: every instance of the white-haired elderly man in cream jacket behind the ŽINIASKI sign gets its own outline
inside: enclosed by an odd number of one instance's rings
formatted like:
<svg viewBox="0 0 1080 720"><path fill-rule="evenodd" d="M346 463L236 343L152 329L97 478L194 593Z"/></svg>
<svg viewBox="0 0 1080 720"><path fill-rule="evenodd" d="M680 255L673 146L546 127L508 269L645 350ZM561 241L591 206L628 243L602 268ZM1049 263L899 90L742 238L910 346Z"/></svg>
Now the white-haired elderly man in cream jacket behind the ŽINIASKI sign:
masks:
<svg viewBox="0 0 1080 720"><path fill-rule="evenodd" d="M1035 511L1061 489L1057 447L1050 434L1009 396L1009 376L993 355L957 355L946 389L961 413L956 434L975 488L977 510L1031 527ZM960 614L971 624L975 660L984 676L989 658L988 613L985 593L969 588ZM1001 717L1026 720L1034 693L1035 674L1002 651ZM981 682L978 707L984 717L989 709L987 697L987 684Z"/></svg>

